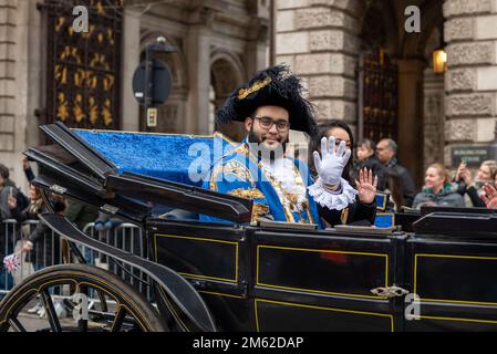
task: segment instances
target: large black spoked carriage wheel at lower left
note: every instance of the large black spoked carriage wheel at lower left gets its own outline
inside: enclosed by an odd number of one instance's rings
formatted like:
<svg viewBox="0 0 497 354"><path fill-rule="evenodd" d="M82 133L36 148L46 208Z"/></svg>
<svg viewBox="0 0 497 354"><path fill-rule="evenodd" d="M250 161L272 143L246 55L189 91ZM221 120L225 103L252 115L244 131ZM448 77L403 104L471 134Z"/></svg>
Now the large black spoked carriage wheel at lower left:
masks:
<svg viewBox="0 0 497 354"><path fill-rule="evenodd" d="M28 314L28 308L37 301L41 302L41 312ZM87 315L79 301L93 302ZM0 302L0 332L8 331L165 332L167 325L158 311L121 278L96 267L62 264L28 277Z"/></svg>

